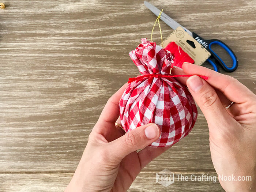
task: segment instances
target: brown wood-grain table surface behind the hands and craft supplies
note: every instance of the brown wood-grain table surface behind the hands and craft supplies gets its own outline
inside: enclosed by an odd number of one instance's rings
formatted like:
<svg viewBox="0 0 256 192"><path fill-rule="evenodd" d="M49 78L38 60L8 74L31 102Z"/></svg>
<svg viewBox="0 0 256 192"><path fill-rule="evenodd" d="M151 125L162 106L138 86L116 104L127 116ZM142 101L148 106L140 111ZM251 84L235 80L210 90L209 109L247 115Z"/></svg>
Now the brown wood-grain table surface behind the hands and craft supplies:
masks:
<svg viewBox="0 0 256 192"><path fill-rule="evenodd" d="M156 19L142 0L6 0L0 10L0 191L64 191L108 98L139 74L128 52ZM256 93L254 0L155 0L167 15L236 53L229 75ZM172 30L161 22L163 37ZM160 43L158 27L153 35ZM222 73L225 73L221 71ZM211 181L156 183L156 173L216 176L199 110L192 132L138 175L130 192L223 191Z"/></svg>

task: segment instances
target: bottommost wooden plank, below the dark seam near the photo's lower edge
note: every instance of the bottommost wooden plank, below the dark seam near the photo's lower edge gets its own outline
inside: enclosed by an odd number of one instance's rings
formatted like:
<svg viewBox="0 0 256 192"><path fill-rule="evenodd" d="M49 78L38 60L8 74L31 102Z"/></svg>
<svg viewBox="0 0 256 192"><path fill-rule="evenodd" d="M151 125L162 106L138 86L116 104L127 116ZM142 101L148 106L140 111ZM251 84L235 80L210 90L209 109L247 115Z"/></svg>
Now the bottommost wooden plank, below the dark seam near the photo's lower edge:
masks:
<svg viewBox="0 0 256 192"><path fill-rule="evenodd" d="M208 176L216 176L214 172L207 172ZM188 176L187 181L185 179L180 180L176 174L182 174L182 176ZM214 182L214 179L203 179L200 181L198 177L202 178L202 174L205 172L175 172L174 183L165 187L159 183L156 183L156 173L141 172L128 192L172 192L172 191L186 191L186 192L205 192L216 191L224 192L221 189L220 184ZM192 176L191 176L192 175ZM52 173L52 174L0 174L0 190L1 192L61 192L66 188L66 183L69 182L72 174L69 173ZM197 177L197 178L196 178ZM180 178L180 176L179 176ZM209 178L209 177L208 177ZM191 181L192 180L192 181ZM193 181L196 180L196 181ZM201 187L200 187L201 186Z"/></svg>

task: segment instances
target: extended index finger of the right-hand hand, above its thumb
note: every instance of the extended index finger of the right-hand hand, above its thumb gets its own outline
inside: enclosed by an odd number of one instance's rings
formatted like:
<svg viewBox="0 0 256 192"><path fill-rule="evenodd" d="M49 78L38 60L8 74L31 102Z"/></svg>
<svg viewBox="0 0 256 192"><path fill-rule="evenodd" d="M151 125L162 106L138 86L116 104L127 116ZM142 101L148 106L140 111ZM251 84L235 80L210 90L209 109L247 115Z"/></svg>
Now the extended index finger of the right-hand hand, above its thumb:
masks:
<svg viewBox="0 0 256 192"><path fill-rule="evenodd" d="M206 67L191 63L184 63L182 65L182 69L187 75L207 76L207 82L212 87L215 87L221 91L227 97L227 99L235 103L244 103L248 101L248 98L255 96L251 90L231 76L220 74Z"/></svg>

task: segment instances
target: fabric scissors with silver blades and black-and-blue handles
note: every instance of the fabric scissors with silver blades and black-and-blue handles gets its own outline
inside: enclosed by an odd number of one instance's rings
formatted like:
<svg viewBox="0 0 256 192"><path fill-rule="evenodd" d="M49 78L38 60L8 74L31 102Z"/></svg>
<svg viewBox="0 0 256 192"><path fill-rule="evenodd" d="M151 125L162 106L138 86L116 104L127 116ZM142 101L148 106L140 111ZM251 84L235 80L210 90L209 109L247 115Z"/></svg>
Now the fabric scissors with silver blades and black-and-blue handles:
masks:
<svg viewBox="0 0 256 192"><path fill-rule="evenodd" d="M155 15L159 15L160 10L156 7L154 7L153 5L151 5L150 3L148 3L147 1L144 1L145 6L152 11ZM214 68L214 71L218 71L219 72L219 65L226 71L226 72L233 72L237 69L237 65L238 65L238 61L237 61L237 57L234 54L234 52L229 48L229 46L227 46L224 42L222 42L219 39L203 39L202 37L200 37L199 35L197 35L194 32L189 31L188 29L186 29L185 27L181 26L180 24L178 24L176 21L174 21L172 18L170 18L168 15L166 15L165 13L162 13L161 18L160 18L163 22L165 22L168 26L170 26L173 30L175 30L177 27L182 27L182 29L184 29L190 36L192 36L197 42L199 42L205 49L208 50L208 52L211 53L211 56L206 60L208 63L210 63L212 65L212 67ZM232 61L233 61L233 65L232 67L228 67L224 61L221 59L221 57L218 56L217 53L215 53L211 46L212 45L219 45L221 46L223 49L226 50L226 52L229 54L229 56L231 57Z"/></svg>

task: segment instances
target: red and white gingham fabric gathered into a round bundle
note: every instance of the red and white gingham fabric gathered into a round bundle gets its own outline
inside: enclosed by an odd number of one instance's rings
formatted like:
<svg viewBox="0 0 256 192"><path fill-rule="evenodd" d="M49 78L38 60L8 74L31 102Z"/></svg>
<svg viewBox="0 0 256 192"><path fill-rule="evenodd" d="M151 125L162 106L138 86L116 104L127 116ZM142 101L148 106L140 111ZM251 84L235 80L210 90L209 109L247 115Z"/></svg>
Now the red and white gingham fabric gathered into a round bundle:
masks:
<svg viewBox="0 0 256 192"><path fill-rule="evenodd" d="M175 62L161 46L142 39L142 44L129 53L142 75L170 75ZM125 132L148 123L161 129L152 147L165 147L178 142L193 128L197 109L187 87L174 78L150 78L131 82L120 99L120 118Z"/></svg>

